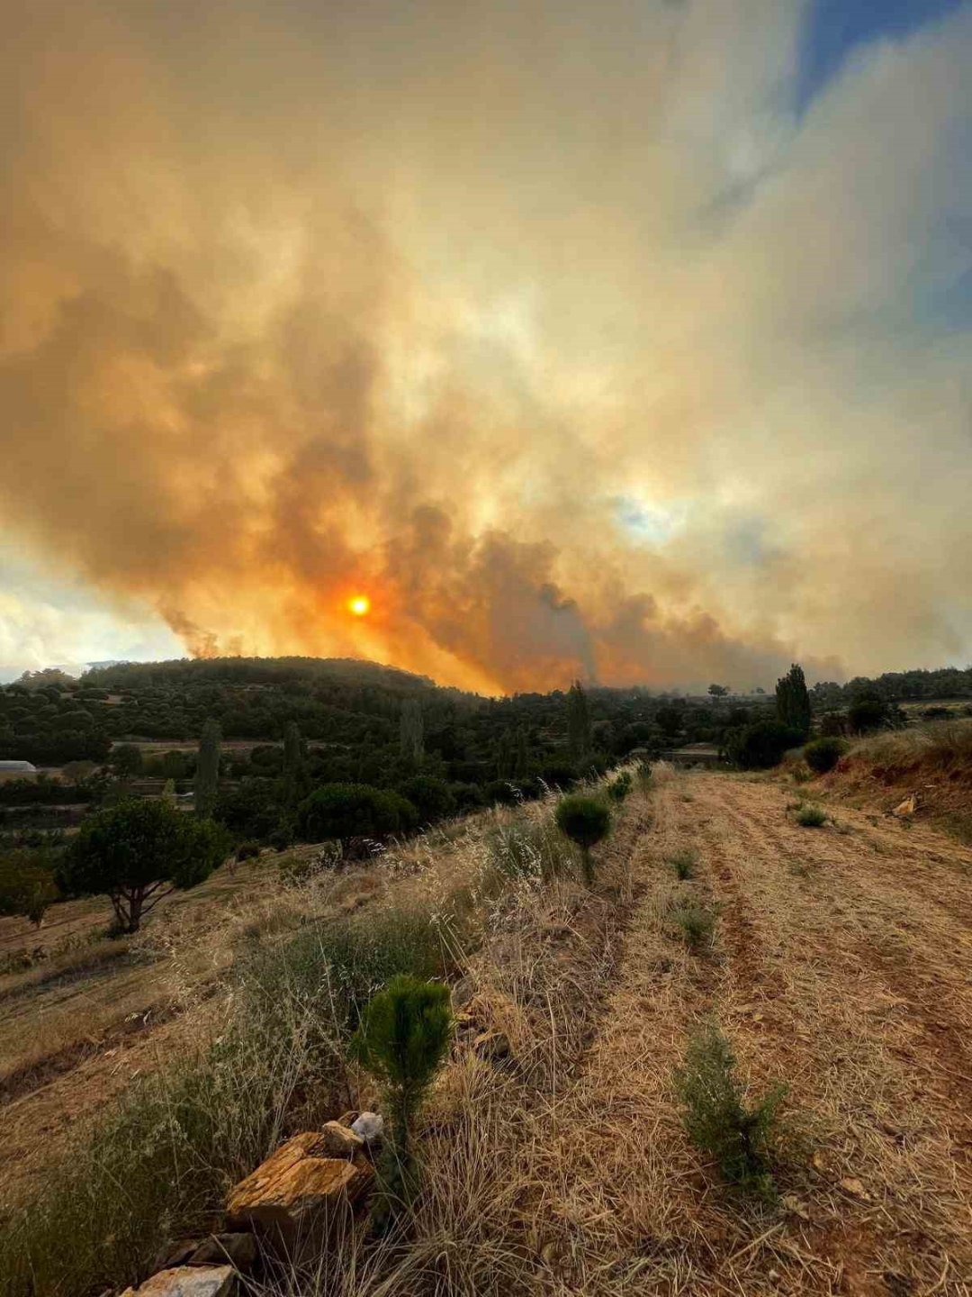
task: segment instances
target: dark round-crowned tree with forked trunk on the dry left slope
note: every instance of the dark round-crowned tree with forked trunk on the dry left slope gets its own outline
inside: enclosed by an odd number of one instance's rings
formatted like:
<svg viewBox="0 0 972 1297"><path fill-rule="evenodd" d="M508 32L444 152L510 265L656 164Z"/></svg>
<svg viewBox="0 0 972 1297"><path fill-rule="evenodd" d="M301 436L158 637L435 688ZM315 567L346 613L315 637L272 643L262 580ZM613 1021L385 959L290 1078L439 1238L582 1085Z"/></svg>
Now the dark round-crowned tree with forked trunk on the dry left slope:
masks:
<svg viewBox="0 0 972 1297"><path fill-rule="evenodd" d="M211 820L167 802L127 798L86 820L57 882L69 895L106 894L126 933L135 933L167 891L194 887L222 863L227 840Z"/></svg>

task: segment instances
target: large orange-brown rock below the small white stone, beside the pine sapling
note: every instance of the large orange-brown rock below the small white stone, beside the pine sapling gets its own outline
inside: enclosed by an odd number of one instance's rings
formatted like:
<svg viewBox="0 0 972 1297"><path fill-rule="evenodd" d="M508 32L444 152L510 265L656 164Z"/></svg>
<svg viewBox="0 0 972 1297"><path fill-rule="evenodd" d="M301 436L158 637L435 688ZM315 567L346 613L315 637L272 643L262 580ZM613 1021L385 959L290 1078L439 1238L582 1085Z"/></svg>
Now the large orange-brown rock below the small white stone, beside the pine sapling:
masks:
<svg viewBox="0 0 972 1297"><path fill-rule="evenodd" d="M229 1191L231 1230L253 1230L288 1253L318 1245L341 1211L358 1201L375 1179L362 1153L353 1158L321 1156L327 1137L295 1135Z"/></svg>

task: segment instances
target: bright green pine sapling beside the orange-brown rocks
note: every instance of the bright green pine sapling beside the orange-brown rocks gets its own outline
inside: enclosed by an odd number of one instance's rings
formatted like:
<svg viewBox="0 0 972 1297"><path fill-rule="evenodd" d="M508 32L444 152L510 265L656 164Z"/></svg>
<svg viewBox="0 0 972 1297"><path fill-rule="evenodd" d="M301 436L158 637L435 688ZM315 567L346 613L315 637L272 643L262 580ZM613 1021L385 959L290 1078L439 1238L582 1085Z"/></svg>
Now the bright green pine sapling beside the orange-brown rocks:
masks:
<svg viewBox="0 0 972 1297"><path fill-rule="evenodd" d="M381 1193L373 1206L378 1224L407 1205L415 1192L415 1118L451 1039L450 992L437 982L395 977L362 1017L351 1052L381 1084L390 1118L381 1152Z"/></svg>

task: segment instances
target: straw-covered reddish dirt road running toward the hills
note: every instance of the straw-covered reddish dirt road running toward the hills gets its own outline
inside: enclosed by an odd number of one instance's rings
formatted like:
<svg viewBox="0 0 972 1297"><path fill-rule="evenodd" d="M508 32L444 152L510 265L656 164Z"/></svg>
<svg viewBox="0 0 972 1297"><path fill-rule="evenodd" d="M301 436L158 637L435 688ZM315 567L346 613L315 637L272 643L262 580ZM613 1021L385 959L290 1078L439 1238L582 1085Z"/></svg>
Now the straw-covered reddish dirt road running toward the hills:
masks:
<svg viewBox="0 0 972 1297"><path fill-rule="evenodd" d="M800 827L770 781L688 774L653 800L618 986L537 1169L559 1281L972 1293L972 851L859 811ZM708 955L673 925L687 896L718 908ZM680 1128L671 1071L706 1019L754 1093L788 1086L781 1211L734 1200Z"/></svg>

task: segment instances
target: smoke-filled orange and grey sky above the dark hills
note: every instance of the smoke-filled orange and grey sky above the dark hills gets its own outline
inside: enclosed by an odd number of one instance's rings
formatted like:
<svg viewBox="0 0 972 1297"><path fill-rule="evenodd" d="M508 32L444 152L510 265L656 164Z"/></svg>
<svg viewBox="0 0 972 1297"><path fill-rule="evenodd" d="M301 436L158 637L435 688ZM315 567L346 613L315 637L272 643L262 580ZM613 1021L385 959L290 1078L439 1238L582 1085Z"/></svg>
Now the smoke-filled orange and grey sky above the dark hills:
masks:
<svg viewBox="0 0 972 1297"><path fill-rule="evenodd" d="M968 0L14 0L0 176L0 678L972 660Z"/></svg>

